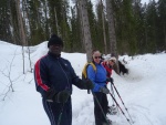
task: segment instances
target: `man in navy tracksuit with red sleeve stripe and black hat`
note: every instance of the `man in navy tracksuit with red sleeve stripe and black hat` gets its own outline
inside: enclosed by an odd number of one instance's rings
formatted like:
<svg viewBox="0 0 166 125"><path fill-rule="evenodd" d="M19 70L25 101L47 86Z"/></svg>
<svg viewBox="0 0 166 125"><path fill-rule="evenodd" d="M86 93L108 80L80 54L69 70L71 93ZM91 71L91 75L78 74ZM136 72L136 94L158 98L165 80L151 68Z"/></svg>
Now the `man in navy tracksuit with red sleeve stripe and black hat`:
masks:
<svg viewBox="0 0 166 125"><path fill-rule="evenodd" d="M43 107L51 125L72 125L72 84L91 90L93 83L79 79L71 63L61 58L63 41L58 35L52 34L48 48L48 54L34 65L37 91L42 95Z"/></svg>

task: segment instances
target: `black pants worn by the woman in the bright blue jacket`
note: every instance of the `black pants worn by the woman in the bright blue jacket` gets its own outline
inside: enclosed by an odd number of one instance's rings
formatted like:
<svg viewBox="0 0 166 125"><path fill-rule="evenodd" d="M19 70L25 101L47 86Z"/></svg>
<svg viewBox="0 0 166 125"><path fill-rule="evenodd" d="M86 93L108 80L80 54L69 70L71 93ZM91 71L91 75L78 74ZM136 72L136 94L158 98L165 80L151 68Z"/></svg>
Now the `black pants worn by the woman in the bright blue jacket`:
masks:
<svg viewBox="0 0 166 125"><path fill-rule="evenodd" d="M106 118L107 103L108 103L107 96L104 93L95 92L93 93L93 100L94 100L95 125L102 125L103 123L106 123L105 118ZM102 108L100 107L100 105Z"/></svg>

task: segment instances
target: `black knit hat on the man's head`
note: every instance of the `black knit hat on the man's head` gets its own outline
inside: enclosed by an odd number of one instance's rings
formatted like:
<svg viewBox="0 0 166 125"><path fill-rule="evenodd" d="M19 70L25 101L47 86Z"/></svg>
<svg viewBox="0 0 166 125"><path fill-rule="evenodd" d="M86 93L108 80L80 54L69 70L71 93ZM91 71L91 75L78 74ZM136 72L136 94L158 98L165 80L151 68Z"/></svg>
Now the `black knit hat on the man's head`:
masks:
<svg viewBox="0 0 166 125"><path fill-rule="evenodd" d="M53 44L60 44L63 46L63 41L56 34L52 34L48 42L48 48Z"/></svg>

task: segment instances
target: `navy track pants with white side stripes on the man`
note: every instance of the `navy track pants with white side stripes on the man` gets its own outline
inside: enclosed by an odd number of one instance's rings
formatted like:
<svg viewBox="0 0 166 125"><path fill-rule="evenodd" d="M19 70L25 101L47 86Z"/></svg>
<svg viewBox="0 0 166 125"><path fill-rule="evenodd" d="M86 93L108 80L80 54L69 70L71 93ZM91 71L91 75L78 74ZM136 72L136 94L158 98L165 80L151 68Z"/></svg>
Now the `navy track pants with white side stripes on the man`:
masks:
<svg viewBox="0 0 166 125"><path fill-rule="evenodd" d="M46 112L51 125L58 125L62 108L63 112L62 112L60 125L72 125L71 98L68 101L68 103L64 104L64 106L62 103L46 102L44 98L42 102L43 102L44 111Z"/></svg>

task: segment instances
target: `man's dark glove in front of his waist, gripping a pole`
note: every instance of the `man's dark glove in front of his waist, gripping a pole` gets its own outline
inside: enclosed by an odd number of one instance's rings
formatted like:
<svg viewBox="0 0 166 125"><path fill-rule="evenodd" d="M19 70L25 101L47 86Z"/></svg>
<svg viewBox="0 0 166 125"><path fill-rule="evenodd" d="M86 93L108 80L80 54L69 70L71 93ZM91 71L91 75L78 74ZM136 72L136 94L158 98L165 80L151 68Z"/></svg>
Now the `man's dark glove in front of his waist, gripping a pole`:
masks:
<svg viewBox="0 0 166 125"><path fill-rule="evenodd" d="M61 91L54 96L54 101L58 103L66 103L71 94L72 92L70 90Z"/></svg>

